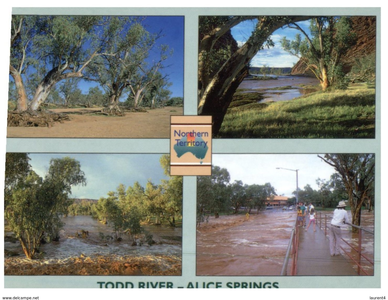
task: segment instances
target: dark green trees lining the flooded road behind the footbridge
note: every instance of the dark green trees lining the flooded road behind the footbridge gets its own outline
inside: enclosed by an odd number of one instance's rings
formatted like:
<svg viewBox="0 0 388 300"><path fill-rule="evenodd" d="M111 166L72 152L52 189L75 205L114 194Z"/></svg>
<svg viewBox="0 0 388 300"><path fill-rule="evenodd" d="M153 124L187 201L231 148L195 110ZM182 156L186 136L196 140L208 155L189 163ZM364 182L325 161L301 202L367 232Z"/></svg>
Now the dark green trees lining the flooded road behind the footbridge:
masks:
<svg viewBox="0 0 388 300"><path fill-rule="evenodd" d="M316 178L318 190L309 184L303 189L294 190L294 197L288 198L288 205L311 202L319 208L335 208L338 202L346 201L352 212L352 224L359 226L362 208L371 212L375 203L374 154L326 153L317 155L316 159L329 164L335 173L331 174L329 180ZM270 183L246 185L241 180L231 183L226 168L213 166L211 176L197 177L197 227L201 222L207 223L210 214L218 218L221 214L237 214L242 209L245 213L251 213L253 209L258 213L270 206L269 202L276 195ZM278 208L283 206L280 203L277 203Z"/></svg>

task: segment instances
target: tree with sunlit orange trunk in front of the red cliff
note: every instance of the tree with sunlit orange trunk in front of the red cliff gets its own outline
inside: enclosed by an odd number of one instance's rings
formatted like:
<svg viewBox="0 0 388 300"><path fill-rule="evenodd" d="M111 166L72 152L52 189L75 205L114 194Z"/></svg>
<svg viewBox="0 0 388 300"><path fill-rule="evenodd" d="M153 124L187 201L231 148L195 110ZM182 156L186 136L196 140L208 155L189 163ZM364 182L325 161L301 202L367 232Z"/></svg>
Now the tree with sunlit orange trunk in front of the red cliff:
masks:
<svg viewBox="0 0 388 300"><path fill-rule="evenodd" d="M299 33L293 41L283 37L283 49L301 59L306 68L319 79L322 90L330 86L346 88L341 58L356 41L350 18L314 17L310 20L311 35L295 22L287 27L299 30L304 39Z"/></svg>

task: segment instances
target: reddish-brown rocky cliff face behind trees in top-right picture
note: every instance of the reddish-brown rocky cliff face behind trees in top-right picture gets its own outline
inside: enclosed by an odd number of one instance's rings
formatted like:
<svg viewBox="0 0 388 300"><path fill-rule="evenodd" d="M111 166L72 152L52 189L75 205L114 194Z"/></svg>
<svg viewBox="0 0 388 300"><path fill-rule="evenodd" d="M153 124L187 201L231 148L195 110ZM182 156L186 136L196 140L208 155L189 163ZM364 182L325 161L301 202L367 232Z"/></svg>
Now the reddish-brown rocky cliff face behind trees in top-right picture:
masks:
<svg viewBox="0 0 388 300"><path fill-rule="evenodd" d="M351 19L353 21L353 31L357 33L357 43L341 59L346 73L352 68L355 58L376 53L376 17L354 16ZM296 63L291 74L314 76L309 70L306 70L306 66L301 61Z"/></svg>

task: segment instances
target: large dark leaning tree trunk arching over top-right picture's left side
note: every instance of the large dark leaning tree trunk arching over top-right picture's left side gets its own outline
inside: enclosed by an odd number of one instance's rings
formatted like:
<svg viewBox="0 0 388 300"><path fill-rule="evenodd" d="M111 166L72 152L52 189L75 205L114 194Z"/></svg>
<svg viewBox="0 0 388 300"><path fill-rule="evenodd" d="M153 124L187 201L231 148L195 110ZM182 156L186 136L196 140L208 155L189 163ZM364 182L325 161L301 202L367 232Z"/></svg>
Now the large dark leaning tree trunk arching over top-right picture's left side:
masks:
<svg viewBox="0 0 388 300"><path fill-rule="evenodd" d="M200 18L198 114L213 116L214 135L217 135L220 130L233 94L248 74L249 61L265 46L274 45L270 37L275 30L288 23L310 18L309 16L206 16ZM230 34L231 28L246 20L256 20L256 25L244 45L237 49L232 49L230 44L215 47L218 41ZM226 53L215 58L220 60L220 63L213 63L211 54L215 51L219 52L219 49L224 49Z"/></svg>

